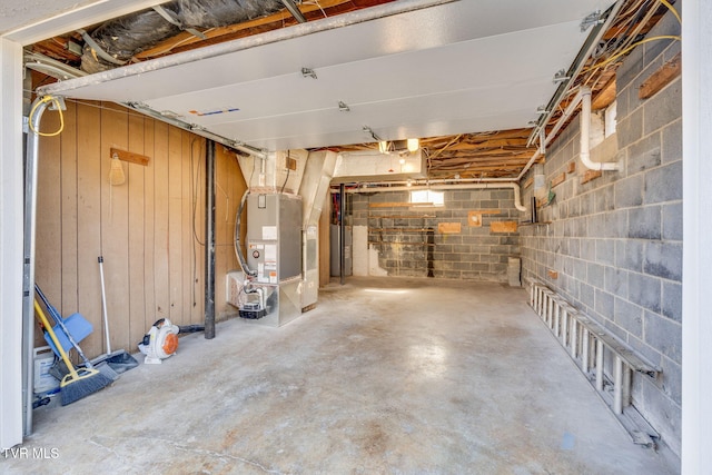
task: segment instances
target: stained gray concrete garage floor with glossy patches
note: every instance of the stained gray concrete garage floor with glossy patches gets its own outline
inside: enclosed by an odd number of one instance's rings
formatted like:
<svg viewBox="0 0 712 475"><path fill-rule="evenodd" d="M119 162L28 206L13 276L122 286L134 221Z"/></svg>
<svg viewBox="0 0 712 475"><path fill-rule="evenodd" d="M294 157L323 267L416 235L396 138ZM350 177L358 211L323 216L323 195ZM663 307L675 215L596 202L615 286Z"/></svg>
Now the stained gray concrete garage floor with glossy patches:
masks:
<svg viewBox="0 0 712 475"><path fill-rule="evenodd" d="M679 472L631 442L526 293L498 284L350 278L281 328L220 323L55 406L0 472Z"/></svg>

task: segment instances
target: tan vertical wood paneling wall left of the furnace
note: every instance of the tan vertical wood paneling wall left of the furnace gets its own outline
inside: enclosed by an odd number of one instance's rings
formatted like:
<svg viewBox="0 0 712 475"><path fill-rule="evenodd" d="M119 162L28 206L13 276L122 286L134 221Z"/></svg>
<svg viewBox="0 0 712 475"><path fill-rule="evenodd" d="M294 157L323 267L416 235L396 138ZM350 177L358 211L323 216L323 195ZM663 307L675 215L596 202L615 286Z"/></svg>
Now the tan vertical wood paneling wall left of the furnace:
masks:
<svg viewBox="0 0 712 475"><path fill-rule="evenodd" d="M41 130L59 127L47 111ZM110 148L149 157L121 162L109 185ZM225 273L238 267L235 212L246 188L235 154L216 150L216 313ZM205 139L109 102L68 100L65 128L39 149L37 281L63 316L93 325L87 356L106 352L98 256L105 258L111 349L137 350L151 324L202 323L205 297ZM38 342L39 343L39 342Z"/></svg>

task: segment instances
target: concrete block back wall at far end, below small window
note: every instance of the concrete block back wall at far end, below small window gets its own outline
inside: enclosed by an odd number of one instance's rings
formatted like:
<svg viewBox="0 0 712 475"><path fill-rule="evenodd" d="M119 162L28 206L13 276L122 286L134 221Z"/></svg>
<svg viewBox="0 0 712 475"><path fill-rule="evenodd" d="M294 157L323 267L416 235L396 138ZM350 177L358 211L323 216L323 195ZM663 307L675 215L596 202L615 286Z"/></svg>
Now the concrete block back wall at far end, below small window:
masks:
<svg viewBox="0 0 712 475"><path fill-rule="evenodd" d="M518 232L492 232L492 221L517 221L512 189L444 191L443 207L372 207L407 204L408 191L354 194L352 224L368 227L368 244L389 276L507 281L510 257L520 257ZM468 226L468 212L483 215L482 227ZM461 232L442 234L442 222L459 224Z"/></svg>

